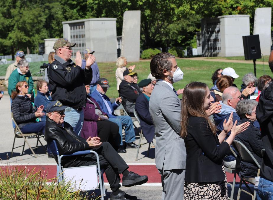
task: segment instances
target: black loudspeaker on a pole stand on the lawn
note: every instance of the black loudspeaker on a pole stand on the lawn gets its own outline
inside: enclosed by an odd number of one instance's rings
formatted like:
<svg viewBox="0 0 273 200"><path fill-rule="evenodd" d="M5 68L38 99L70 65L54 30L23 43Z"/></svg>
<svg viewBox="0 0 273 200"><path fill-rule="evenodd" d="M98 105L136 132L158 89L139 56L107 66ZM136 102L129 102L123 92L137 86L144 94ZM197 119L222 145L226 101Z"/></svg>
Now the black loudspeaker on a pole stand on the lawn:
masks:
<svg viewBox="0 0 273 200"><path fill-rule="evenodd" d="M256 77L256 59L261 58L259 35L243 36L245 60L253 60L254 75Z"/></svg>

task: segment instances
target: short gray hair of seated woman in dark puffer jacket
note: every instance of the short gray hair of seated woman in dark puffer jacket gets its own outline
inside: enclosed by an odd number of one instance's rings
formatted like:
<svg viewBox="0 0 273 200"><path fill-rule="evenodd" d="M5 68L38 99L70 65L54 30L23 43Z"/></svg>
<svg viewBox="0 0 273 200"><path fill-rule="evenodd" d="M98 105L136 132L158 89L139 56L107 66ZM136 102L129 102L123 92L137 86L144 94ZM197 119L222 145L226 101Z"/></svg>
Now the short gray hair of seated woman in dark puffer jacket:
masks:
<svg viewBox="0 0 273 200"><path fill-rule="evenodd" d="M247 118L246 113L251 115L253 108L258 105L258 102L253 99L240 100L236 106L236 113L240 118Z"/></svg>

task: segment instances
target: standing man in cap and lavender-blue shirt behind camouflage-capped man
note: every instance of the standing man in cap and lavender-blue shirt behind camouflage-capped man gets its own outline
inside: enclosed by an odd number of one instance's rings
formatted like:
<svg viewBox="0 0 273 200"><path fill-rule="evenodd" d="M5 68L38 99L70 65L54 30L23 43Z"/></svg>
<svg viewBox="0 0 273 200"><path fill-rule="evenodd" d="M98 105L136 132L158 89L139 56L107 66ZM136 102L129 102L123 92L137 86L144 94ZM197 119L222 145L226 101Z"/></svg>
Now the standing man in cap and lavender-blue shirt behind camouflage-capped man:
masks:
<svg viewBox="0 0 273 200"><path fill-rule="evenodd" d="M90 48L87 48L83 51L83 53L84 53L84 57L83 57L84 59L82 59L82 69L84 69L86 66L86 60L87 60L88 56L90 54L93 55L93 53L95 53L95 51L90 50ZM97 89L97 81L100 78L100 71L99 71L99 67L98 67L98 64L96 61L91 65L91 69L92 69L92 81L89 84L90 85L90 94ZM88 95L90 95L90 94L88 94Z"/></svg>

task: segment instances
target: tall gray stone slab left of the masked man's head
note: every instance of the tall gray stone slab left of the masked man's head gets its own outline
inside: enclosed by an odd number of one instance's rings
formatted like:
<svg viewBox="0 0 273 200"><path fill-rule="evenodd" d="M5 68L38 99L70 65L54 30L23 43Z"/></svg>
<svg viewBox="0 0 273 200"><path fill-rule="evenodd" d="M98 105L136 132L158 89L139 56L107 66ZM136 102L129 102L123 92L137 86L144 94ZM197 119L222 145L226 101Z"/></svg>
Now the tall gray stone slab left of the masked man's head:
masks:
<svg viewBox="0 0 273 200"><path fill-rule="evenodd" d="M139 61L140 10L125 11L123 14L121 56L129 62Z"/></svg>

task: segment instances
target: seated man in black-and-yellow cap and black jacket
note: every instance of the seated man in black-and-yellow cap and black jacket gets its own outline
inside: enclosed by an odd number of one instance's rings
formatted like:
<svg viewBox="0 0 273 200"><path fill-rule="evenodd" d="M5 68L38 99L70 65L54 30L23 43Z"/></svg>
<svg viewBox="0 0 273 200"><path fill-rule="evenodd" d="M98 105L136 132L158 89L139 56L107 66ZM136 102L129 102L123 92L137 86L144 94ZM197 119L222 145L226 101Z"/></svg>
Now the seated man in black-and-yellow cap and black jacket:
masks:
<svg viewBox="0 0 273 200"><path fill-rule="evenodd" d="M119 85L119 95L123 100L122 105L126 112L131 116L134 117L134 108L137 97L139 96L139 91L133 84L134 75L136 72L132 71L131 69L126 69L123 72L124 79L121 81Z"/></svg>

